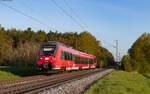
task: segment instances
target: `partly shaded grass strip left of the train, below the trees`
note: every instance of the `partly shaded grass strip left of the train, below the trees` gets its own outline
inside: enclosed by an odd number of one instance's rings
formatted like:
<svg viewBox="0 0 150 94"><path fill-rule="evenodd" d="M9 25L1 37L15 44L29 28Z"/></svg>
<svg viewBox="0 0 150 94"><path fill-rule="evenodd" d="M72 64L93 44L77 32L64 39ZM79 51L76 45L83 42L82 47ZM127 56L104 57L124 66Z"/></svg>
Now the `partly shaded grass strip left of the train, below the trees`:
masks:
<svg viewBox="0 0 150 94"><path fill-rule="evenodd" d="M35 68L0 66L0 80L36 75Z"/></svg>

